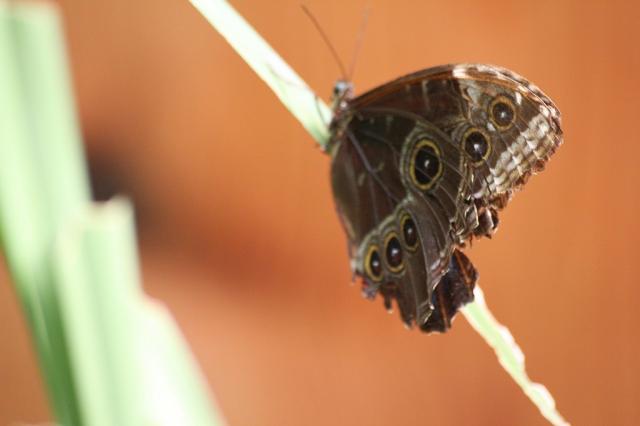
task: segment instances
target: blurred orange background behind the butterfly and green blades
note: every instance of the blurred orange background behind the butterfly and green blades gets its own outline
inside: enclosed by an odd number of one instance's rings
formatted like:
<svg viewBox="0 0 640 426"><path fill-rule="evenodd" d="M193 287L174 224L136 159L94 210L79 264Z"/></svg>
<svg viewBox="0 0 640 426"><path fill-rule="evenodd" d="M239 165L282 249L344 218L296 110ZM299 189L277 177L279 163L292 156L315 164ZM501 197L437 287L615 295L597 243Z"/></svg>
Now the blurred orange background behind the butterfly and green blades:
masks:
<svg viewBox="0 0 640 426"><path fill-rule="evenodd" d="M573 424L640 424L640 3L305 2L356 92L486 62L556 101L565 145L467 251ZM60 0L96 195L134 200L145 288L229 425L538 425L464 318L407 331L349 285L329 159L187 1ZM338 68L299 0L233 4L322 96ZM325 96L325 98L326 98ZM0 424L50 419L0 271Z"/></svg>

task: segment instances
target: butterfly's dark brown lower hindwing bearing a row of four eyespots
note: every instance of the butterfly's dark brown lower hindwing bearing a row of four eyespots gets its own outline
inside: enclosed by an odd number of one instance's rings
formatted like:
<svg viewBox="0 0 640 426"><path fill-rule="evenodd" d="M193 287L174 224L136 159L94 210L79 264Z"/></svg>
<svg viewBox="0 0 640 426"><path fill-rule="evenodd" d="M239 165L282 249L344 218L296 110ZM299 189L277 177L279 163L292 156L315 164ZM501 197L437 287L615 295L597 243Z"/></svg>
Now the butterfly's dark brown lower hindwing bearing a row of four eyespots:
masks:
<svg viewBox="0 0 640 426"><path fill-rule="evenodd" d="M432 292L449 267L456 223L465 220L462 212L469 206L462 200L468 192L462 154L439 129L401 111L361 111L343 135L333 152L332 185L355 271L364 277L368 295L379 290L387 305L396 299L403 321L422 325L433 309ZM427 190L417 188L407 172L421 143L437 151L440 166ZM405 241L407 217L415 228L415 247ZM403 253L399 271L384 257L391 234ZM367 271L372 247L381 257L379 278Z"/></svg>

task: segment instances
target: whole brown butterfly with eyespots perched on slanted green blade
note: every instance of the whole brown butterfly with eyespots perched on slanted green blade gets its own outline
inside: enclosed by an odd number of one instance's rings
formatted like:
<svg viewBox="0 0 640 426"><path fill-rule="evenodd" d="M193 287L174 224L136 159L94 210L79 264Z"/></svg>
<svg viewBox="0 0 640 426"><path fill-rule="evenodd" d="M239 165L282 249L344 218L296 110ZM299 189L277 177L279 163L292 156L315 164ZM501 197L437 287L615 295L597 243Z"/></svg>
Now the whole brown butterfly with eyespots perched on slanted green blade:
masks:
<svg viewBox="0 0 640 426"><path fill-rule="evenodd" d="M360 96L333 93L327 151L336 209L363 294L395 300L403 322L445 332L473 300L462 249L562 143L560 112L504 68L444 65Z"/></svg>

